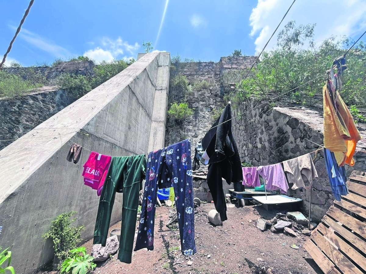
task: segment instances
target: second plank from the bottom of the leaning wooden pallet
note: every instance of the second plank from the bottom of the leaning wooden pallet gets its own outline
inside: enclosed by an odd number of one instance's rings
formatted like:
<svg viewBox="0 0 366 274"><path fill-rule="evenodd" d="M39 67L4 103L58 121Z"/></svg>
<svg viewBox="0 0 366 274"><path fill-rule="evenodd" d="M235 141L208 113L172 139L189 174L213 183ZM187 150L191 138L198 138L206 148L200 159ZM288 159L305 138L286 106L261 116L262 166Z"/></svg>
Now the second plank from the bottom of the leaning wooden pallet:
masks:
<svg viewBox="0 0 366 274"><path fill-rule="evenodd" d="M311 234L311 239L344 274L363 274L362 271L355 267L355 265L341 254L337 248L329 243L319 231L314 231L314 233Z"/></svg>

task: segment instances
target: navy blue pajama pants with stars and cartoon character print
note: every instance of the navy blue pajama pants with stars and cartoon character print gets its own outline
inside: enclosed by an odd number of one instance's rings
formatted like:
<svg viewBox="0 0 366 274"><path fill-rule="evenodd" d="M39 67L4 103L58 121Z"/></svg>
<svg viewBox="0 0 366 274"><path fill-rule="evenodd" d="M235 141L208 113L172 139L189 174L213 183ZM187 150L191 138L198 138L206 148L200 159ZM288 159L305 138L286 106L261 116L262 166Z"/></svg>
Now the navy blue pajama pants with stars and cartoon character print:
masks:
<svg viewBox="0 0 366 274"><path fill-rule="evenodd" d="M154 221L158 188L173 186L183 255L193 255L194 203L191 139L149 153L141 217L134 251L154 249Z"/></svg>

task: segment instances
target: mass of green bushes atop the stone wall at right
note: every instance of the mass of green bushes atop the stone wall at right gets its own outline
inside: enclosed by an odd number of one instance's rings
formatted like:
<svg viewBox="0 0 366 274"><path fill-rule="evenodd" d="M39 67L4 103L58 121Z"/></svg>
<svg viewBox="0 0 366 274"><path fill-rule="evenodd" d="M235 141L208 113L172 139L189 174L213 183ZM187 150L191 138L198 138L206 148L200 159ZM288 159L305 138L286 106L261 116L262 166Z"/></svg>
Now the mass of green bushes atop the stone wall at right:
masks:
<svg viewBox="0 0 366 274"><path fill-rule="evenodd" d="M330 37L316 46L313 40L314 31L315 24L296 26L295 21L288 22L277 37L277 48L264 52L257 67L242 82L232 100L234 107L248 97L267 101L294 89L280 97L277 103L280 100L280 104L317 105L321 108L322 87L325 83L322 75L336 57L346 53L353 41L346 37L336 41L335 37ZM341 96L347 105L365 108L365 43L358 42L346 58L348 69L342 75ZM246 74L247 71L243 71L243 77ZM239 80L236 83L237 88ZM361 111L358 114L365 115Z"/></svg>

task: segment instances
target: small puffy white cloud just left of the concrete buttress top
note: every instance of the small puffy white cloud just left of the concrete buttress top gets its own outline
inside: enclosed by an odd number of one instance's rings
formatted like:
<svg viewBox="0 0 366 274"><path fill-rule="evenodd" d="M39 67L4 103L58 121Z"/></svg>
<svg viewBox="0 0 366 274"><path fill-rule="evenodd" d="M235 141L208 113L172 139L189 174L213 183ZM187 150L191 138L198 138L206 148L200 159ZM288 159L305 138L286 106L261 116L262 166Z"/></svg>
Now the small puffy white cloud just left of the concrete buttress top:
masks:
<svg viewBox="0 0 366 274"><path fill-rule="evenodd" d="M128 44L127 41L123 41L121 37L116 40L112 40L108 37L103 37L101 46L94 49L87 50L83 55L100 63L105 60L107 62L112 61L119 55L122 55L125 51L129 52L131 55L137 55L137 50L140 45L136 42L135 45ZM124 56L122 59L129 60L131 57Z"/></svg>

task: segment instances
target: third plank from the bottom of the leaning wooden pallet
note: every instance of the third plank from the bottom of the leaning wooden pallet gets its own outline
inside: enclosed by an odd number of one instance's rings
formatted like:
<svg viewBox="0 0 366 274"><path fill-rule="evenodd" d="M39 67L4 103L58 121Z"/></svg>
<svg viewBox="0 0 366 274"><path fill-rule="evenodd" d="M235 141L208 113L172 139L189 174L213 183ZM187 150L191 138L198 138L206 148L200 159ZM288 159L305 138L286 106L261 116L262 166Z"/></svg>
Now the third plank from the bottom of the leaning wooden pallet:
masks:
<svg viewBox="0 0 366 274"><path fill-rule="evenodd" d="M317 226L317 230L320 231L325 237L327 237L333 244L336 245L343 253L350 257L356 264L362 269L366 269L366 258L359 254L354 248L344 242L340 237L333 233L329 228L326 228L323 224Z"/></svg>

